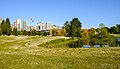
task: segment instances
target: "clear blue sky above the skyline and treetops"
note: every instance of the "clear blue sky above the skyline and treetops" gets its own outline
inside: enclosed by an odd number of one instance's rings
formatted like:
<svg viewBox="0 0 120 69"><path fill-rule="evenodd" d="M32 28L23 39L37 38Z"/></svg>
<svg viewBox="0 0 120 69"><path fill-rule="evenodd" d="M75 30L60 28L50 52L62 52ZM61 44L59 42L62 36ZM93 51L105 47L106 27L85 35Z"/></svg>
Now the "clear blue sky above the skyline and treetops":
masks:
<svg viewBox="0 0 120 69"><path fill-rule="evenodd" d="M120 0L0 0L0 17L63 26L65 21L79 18L82 28L97 28L100 23L111 27L120 24ZM30 23L30 18L34 22Z"/></svg>

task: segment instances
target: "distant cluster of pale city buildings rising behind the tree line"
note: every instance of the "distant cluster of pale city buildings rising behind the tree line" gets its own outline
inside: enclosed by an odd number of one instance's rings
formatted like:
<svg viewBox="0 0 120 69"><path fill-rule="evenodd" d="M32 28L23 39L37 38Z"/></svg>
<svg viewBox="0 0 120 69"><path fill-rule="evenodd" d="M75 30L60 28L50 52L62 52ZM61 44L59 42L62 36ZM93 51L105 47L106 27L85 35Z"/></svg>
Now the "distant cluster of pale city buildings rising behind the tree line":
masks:
<svg viewBox="0 0 120 69"><path fill-rule="evenodd" d="M0 18L0 24L2 23L2 18ZM50 29L61 29L60 26L52 25L50 22L46 22L45 24L42 22L38 22L36 27L29 26L27 20L21 20L20 18L16 19L14 23L11 25L12 30L17 28L17 31L32 31L35 29L36 31L49 31Z"/></svg>

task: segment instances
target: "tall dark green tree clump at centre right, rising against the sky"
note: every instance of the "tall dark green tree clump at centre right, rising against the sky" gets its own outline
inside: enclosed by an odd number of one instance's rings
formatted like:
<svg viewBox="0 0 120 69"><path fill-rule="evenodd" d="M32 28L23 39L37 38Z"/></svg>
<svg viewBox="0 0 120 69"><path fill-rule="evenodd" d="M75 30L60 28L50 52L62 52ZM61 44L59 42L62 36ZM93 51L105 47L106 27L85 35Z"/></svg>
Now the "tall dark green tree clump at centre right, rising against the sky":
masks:
<svg viewBox="0 0 120 69"><path fill-rule="evenodd" d="M66 21L64 23L64 28L66 30L67 36L69 37L80 37L81 36L81 22L78 18L73 18L70 23Z"/></svg>

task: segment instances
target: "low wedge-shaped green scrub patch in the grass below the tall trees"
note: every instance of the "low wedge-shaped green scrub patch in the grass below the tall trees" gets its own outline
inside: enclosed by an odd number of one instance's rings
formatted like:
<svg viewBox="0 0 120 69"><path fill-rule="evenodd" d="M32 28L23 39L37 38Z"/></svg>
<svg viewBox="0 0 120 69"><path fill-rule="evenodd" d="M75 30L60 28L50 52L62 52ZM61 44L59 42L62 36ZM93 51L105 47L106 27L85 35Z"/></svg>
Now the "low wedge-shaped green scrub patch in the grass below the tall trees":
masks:
<svg viewBox="0 0 120 69"><path fill-rule="evenodd" d="M80 48L83 46L82 39L56 39L40 44L39 47L53 48Z"/></svg>

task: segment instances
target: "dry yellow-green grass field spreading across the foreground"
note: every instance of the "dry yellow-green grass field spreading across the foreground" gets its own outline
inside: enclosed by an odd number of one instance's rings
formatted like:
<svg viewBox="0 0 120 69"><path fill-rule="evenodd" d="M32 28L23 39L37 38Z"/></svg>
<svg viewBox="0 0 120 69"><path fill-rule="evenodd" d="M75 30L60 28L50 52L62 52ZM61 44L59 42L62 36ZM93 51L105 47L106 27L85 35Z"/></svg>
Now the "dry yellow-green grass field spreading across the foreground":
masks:
<svg viewBox="0 0 120 69"><path fill-rule="evenodd" d="M0 36L0 69L120 69L119 47L38 47L58 38Z"/></svg>

